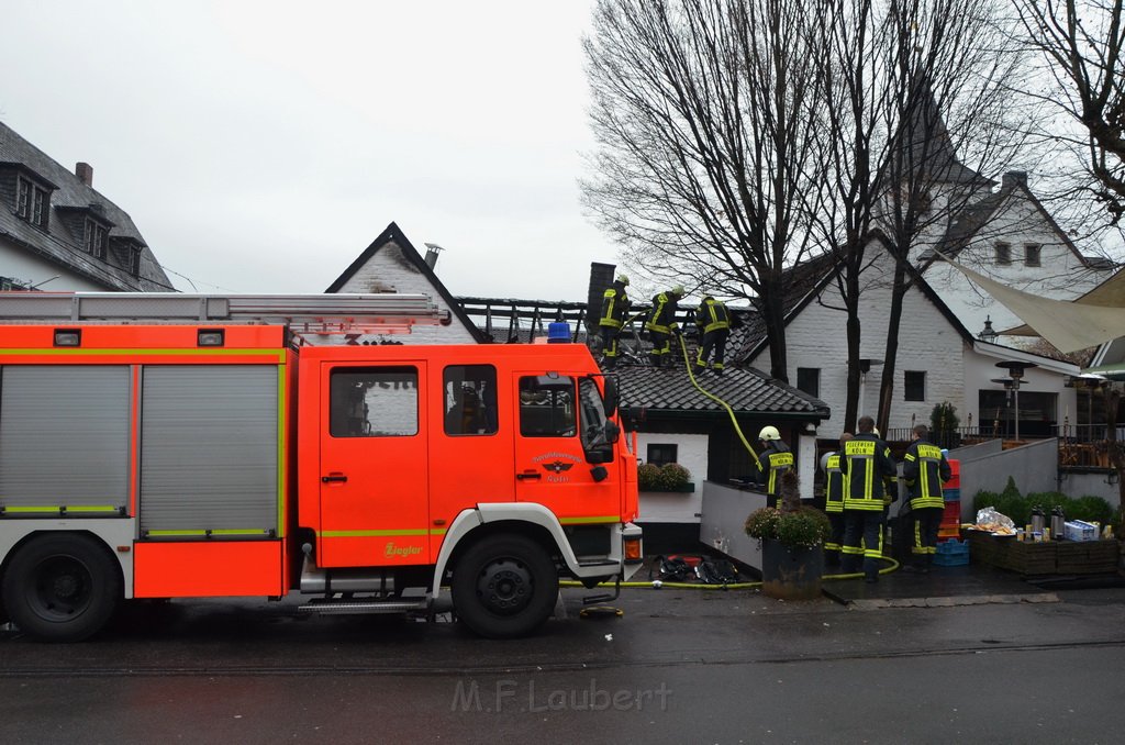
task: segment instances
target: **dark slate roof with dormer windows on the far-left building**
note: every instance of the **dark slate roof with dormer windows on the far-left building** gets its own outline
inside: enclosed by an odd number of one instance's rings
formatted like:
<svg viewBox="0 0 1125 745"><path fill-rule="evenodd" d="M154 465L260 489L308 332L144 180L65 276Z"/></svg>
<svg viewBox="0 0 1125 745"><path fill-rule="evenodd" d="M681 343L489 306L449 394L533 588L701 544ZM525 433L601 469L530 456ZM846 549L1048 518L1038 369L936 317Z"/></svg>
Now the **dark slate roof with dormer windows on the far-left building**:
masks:
<svg viewBox="0 0 1125 745"><path fill-rule="evenodd" d="M57 187L51 194L51 213L44 231L16 216L16 205L3 199L0 206L0 240L7 240L60 267L80 275L110 290L174 290L168 275L156 262L152 250L133 224L133 218L93 187L82 182L70 169L53 160L0 122L0 167L26 168L39 179ZM92 212L111 225L106 258L97 259L83 250L83 239L71 233L64 216L68 210ZM125 255L127 245L142 246L138 277L129 272Z"/></svg>

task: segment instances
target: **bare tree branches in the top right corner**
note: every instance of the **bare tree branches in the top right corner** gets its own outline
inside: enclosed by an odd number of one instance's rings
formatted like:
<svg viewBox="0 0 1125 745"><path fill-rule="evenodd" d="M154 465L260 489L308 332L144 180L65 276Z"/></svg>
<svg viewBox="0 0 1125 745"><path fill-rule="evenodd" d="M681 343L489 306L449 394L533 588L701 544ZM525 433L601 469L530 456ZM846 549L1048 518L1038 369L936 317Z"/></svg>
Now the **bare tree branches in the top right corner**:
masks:
<svg viewBox="0 0 1125 745"><path fill-rule="evenodd" d="M1119 225L1125 214L1125 24L1122 0L1016 0L1027 41L1054 82L1043 100L1084 132L1077 145L1090 178L1084 187Z"/></svg>

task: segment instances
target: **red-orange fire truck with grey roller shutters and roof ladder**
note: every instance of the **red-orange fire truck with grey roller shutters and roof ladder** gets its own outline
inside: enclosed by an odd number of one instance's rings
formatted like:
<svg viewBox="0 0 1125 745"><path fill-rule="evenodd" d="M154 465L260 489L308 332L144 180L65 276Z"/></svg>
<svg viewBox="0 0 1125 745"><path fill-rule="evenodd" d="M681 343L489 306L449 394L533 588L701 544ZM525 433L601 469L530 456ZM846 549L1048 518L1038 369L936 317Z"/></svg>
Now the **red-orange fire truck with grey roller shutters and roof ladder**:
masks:
<svg viewBox="0 0 1125 745"><path fill-rule="evenodd" d="M614 380L580 344L386 343L442 322L408 295L0 294L0 610L76 640L123 599L449 592L513 637L560 575L627 578Z"/></svg>

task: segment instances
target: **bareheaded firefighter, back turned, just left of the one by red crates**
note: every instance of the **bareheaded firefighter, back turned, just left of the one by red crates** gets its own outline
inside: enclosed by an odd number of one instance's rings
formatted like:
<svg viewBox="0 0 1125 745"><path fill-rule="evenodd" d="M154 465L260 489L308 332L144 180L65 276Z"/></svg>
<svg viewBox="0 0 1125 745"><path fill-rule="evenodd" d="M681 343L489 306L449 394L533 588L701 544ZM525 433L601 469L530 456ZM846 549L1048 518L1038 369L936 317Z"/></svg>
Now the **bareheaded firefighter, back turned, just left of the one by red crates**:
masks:
<svg viewBox="0 0 1125 745"><path fill-rule="evenodd" d="M896 485L898 473L891 449L875 434L875 421L861 416L860 433L844 443L840 473L844 492L843 569L846 574L862 567L864 581L879 582L879 562L883 553L883 513L888 496L884 482Z"/></svg>

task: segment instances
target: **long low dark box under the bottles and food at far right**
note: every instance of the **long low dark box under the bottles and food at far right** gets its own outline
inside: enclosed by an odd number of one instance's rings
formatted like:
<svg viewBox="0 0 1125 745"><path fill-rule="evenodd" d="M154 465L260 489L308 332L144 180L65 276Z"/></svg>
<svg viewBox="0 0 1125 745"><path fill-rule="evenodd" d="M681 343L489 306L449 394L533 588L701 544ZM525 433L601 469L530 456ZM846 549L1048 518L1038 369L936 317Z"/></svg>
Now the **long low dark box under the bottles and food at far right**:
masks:
<svg viewBox="0 0 1125 745"><path fill-rule="evenodd" d="M1119 548L1116 540L1019 541L970 530L970 556L973 562L1027 575L1112 574L1117 572Z"/></svg>

